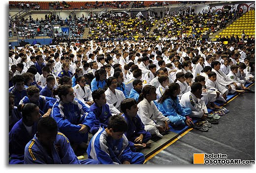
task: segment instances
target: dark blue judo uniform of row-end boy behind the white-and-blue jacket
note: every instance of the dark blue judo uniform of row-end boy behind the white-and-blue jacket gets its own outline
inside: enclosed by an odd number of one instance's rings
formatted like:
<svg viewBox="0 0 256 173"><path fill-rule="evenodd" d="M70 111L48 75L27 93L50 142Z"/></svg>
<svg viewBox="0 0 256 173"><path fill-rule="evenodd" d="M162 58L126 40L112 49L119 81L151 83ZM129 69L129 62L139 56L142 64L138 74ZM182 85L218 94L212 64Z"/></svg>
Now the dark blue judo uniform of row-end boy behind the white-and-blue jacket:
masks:
<svg viewBox="0 0 256 173"><path fill-rule="evenodd" d="M136 148L134 147L134 140L140 135L143 134L142 143L146 144L150 138L151 134L145 130L144 124L141 122L138 115L136 117L133 117L130 119L125 114L122 115L127 124L128 124L128 130L125 132L125 135L129 142L130 149L135 152Z"/></svg>

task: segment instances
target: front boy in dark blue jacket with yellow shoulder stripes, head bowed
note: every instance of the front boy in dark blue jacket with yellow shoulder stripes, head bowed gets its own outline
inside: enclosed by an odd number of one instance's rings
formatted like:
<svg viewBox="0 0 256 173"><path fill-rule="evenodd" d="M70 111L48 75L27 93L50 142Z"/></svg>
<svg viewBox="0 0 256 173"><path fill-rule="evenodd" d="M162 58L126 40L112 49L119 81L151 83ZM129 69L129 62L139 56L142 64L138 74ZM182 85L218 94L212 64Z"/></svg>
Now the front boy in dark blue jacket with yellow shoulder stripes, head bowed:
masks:
<svg viewBox="0 0 256 173"><path fill-rule="evenodd" d="M48 152L46 152L48 151ZM24 164L99 164L96 160L78 160L69 140L58 132L52 117L42 118L37 132L26 145Z"/></svg>

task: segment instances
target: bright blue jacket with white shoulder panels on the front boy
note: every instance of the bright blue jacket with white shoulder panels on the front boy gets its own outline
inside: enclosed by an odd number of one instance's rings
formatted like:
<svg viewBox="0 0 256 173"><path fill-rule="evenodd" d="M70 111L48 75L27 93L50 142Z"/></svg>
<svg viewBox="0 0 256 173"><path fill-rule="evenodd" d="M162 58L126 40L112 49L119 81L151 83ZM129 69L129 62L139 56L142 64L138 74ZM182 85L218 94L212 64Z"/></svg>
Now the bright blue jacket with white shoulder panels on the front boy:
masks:
<svg viewBox="0 0 256 173"><path fill-rule="evenodd" d="M125 134L123 134L123 138L114 140L111 136L108 136L105 128L107 126L100 126L91 139L87 148L89 159L95 159L101 164L123 164L126 160L130 164L144 163L145 157L142 153L130 150Z"/></svg>

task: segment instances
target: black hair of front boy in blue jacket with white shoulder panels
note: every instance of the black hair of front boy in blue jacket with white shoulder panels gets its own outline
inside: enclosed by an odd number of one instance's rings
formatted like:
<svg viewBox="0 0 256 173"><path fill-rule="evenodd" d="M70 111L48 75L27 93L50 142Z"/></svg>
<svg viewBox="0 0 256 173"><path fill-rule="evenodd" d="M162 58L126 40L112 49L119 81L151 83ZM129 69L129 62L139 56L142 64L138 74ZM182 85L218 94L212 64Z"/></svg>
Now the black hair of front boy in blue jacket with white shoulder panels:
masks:
<svg viewBox="0 0 256 173"><path fill-rule="evenodd" d="M114 115L109 118L107 128L112 128L113 132L126 132L128 124L121 115Z"/></svg>

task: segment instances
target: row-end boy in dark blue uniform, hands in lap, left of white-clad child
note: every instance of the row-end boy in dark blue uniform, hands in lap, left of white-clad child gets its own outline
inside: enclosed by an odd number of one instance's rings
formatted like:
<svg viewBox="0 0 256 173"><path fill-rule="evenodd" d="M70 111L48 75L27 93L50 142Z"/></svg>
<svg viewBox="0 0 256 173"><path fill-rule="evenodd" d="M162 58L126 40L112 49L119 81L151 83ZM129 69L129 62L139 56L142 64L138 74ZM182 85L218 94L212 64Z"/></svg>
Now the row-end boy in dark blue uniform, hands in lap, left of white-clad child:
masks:
<svg viewBox="0 0 256 173"><path fill-rule="evenodd" d="M121 110L124 112L122 116L128 124L128 130L125 135L129 141L130 149L136 151L138 148L149 147L151 142L148 141L151 138L151 134L145 131L144 124L137 115L137 101L135 99L124 99L121 102Z"/></svg>

